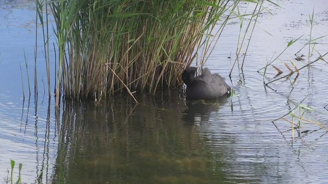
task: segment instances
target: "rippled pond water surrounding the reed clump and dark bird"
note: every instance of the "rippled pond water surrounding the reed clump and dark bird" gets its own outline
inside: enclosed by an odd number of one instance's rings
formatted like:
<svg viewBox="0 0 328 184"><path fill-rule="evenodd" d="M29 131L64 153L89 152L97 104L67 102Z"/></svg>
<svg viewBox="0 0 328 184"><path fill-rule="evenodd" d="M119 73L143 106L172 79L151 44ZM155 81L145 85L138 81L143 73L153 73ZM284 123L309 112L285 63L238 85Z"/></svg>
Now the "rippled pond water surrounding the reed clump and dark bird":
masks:
<svg viewBox="0 0 328 184"><path fill-rule="evenodd" d="M328 52L328 39L323 37L312 44L311 58L307 45L299 54L304 60L294 60L309 41L313 9L312 39L327 35L328 4L277 4L281 8L265 3L273 15L259 16L243 68L241 56L231 78L238 21L227 25L206 63L226 77L236 91L233 98L190 102L175 91L165 91L137 96L139 104L118 96L97 106L74 101L55 109L54 98L44 94L40 45L39 93L35 96L32 87L30 98L23 99L19 65L28 94L24 50L34 86L34 1L0 0L0 183L6 183L10 159L16 162L15 179L17 165L23 163L24 183L327 183L326 128L304 121L292 139L289 122L272 121L305 98L302 104L316 111L306 111L304 118L328 126L328 64L319 60L298 76L268 86L263 79L269 82L289 74L283 64L293 68L289 59L301 68ZM283 74L276 76L271 66L264 77L263 70L257 72L300 36L273 63Z"/></svg>

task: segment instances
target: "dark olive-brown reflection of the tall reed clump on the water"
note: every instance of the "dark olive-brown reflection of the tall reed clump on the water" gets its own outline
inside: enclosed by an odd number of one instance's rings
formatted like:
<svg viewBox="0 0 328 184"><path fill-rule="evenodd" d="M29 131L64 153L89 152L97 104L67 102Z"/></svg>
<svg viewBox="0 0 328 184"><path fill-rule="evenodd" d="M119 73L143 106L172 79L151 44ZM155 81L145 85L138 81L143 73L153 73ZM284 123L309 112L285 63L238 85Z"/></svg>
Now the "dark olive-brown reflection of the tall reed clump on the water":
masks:
<svg viewBox="0 0 328 184"><path fill-rule="evenodd" d="M53 183L210 183L226 174L178 95L65 104ZM191 109L189 109L191 110Z"/></svg>

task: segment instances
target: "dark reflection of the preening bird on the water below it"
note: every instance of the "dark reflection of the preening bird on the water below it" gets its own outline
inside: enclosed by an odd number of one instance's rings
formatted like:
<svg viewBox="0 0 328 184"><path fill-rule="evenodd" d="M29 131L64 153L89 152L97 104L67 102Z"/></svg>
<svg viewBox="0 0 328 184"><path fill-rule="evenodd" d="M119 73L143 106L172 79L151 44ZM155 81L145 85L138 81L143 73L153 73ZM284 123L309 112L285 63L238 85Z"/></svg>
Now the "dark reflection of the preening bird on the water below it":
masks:
<svg viewBox="0 0 328 184"><path fill-rule="evenodd" d="M207 100L186 100L188 109L183 111L182 120L186 125L194 125L195 121L199 119L200 123L207 123L211 112L217 112L227 102L227 97Z"/></svg>

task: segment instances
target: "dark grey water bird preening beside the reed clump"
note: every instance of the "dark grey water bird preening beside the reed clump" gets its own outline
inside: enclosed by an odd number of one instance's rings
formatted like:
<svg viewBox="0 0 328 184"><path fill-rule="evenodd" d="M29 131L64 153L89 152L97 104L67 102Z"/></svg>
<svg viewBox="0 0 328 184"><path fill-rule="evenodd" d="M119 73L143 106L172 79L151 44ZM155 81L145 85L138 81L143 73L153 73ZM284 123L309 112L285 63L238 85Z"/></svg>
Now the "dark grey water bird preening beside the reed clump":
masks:
<svg viewBox="0 0 328 184"><path fill-rule="evenodd" d="M187 67L182 73L182 80L187 85L188 99L214 99L230 96L231 87L219 74L211 74L209 68L203 68L201 75L195 77L196 67Z"/></svg>

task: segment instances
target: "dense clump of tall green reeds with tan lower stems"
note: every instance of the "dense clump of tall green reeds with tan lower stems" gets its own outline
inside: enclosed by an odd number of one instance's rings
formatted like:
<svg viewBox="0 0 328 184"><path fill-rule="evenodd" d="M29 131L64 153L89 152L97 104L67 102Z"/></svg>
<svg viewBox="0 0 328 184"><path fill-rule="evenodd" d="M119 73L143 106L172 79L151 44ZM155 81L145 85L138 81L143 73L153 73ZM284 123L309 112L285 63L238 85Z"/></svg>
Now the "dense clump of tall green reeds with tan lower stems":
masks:
<svg viewBox="0 0 328 184"><path fill-rule="evenodd" d="M50 14L55 22L55 106L61 95L99 101L122 91L133 97L180 88L183 69L206 62L227 21L242 22L240 2L37 0L49 91Z"/></svg>

